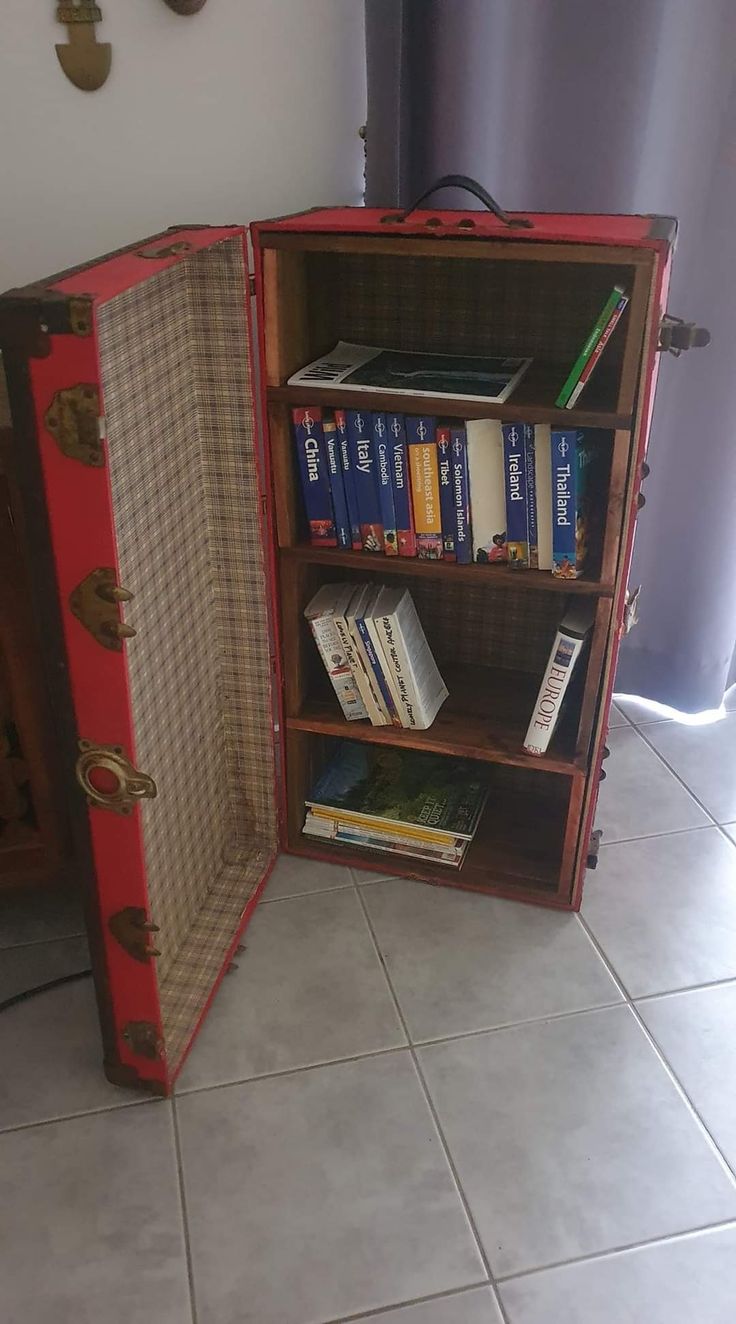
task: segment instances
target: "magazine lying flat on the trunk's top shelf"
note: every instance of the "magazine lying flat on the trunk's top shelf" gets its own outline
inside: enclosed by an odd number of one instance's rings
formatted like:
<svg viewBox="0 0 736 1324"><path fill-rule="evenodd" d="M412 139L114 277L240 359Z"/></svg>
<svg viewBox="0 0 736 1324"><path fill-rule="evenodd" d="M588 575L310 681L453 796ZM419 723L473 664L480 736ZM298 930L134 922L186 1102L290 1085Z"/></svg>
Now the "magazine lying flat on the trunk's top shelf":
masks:
<svg viewBox="0 0 736 1324"><path fill-rule="evenodd" d="M490 355L414 354L340 340L330 354L299 368L289 385L323 391L348 387L373 395L400 392L503 404L531 361Z"/></svg>

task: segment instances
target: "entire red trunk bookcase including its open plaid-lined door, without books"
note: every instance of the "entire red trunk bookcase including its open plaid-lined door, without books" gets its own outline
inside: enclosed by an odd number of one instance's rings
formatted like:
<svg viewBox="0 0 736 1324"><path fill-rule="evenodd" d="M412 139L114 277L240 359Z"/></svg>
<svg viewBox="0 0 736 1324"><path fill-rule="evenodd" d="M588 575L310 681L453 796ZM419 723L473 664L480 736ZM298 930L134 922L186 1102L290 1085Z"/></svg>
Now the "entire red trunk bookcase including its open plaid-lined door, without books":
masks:
<svg viewBox="0 0 736 1324"><path fill-rule="evenodd" d="M252 226L258 392L237 226L171 230L0 299L13 518L111 1080L171 1090L279 849L578 906L672 238L674 222L653 217L343 208L263 221ZM614 282L626 316L584 408L557 410ZM290 410L320 393L287 379L340 338L531 355L508 404L422 409L597 429L605 519L586 577L312 549ZM429 731L348 730L326 688L303 608L326 581L364 579L412 589L450 686ZM531 759L531 704L578 594L594 604L590 647L549 753ZM487 768L459 874L316 851L302 835L304 794L348 733Z"/></svg>

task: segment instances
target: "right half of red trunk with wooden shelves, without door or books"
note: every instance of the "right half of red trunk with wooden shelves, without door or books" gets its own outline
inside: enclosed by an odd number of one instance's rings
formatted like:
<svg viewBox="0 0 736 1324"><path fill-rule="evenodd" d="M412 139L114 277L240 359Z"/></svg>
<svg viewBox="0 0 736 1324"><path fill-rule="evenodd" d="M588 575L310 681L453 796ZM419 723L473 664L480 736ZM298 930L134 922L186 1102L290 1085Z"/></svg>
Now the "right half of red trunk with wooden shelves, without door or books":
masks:
<svg viewBox="0 0 736 1324"><path fill-rule="evenodd" d="M347 220L331 225L323 213L254 226L285 669L286 845L359 867L387 866L385 857L336 843L315 846L302 835L304 796L330 739L462 755L487 764L491 779L488 806L462 870L391 861L392 871L571 908L580 904L585 869L596 859L592 824L625 624L668 244L651 237L650 221L533 217L533 229L508 230L495 217L488 225L482 213L471 214L486 233L469 237L458 213L416 213L409 222L383 226L379 217L360 232ZM437 229L428 230L436 216ZM637 224L639 240L633 244ZM657 234L665 233L659 225ZM630 293L630 307L581 408L556 409L569 364L614 283ZM533 363L504 405L338 395L286 384L338 339L531 355ZM290 428L291 408L306 404L596 429L608 477L598 493L604 518L592 567L582 579L559 580L510 567L310 547ZM428 731L342 718L303 620L316 588L335 580L387 581L412 591L450 688ZM537 759L523 752L523 739L556 626L573 594L594 602L590 646L563 724L547 756Z"/></svg>

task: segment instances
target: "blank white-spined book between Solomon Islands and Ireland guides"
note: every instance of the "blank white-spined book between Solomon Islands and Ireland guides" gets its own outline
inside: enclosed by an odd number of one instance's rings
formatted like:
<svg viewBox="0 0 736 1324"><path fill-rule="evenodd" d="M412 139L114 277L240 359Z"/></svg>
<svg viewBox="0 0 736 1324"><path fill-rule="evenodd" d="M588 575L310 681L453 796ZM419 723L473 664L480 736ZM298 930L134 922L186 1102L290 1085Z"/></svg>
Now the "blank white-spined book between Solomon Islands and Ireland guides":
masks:
<svg viewBox="0 0 736 1324"><path fill-rule="evenodd" d="M506 547L506 487L503 481L503 434L495 418L475 418L466 425L473 560L481 564L508 560Z"/></svg>

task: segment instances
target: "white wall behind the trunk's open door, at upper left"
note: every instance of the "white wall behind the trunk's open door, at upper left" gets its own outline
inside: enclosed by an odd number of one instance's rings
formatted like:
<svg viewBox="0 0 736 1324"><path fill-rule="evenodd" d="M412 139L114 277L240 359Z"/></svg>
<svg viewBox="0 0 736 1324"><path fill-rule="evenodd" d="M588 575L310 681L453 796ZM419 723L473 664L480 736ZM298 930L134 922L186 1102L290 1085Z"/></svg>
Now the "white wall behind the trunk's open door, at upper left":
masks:
<svg viewBox="0 0 736 1324"><path fill-rule="evenodd" d="M361 201L363 0L101 0L103 87L53 0L1 0L0 290L180 222Z"/></svg>

